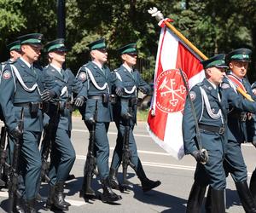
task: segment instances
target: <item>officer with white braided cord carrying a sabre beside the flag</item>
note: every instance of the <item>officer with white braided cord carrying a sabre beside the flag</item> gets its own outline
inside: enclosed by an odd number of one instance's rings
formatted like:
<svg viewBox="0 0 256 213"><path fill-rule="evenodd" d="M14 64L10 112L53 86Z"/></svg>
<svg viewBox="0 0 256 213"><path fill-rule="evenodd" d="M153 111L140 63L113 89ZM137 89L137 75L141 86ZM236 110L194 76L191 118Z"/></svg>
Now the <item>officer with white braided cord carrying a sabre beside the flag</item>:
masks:
<svg viewBox="0 0 256 213"><path fill-rule="evenodd" d="M213 56L201 63L206 78L190 90L183 112L184 151L197 161L195 183L189 193L187 212L201 211L205 192L200 189L210 184L212 210L209 212L224 213L226 180L223 159L228 102L219 84L224 79L227 66L224 55Z"/></svg>

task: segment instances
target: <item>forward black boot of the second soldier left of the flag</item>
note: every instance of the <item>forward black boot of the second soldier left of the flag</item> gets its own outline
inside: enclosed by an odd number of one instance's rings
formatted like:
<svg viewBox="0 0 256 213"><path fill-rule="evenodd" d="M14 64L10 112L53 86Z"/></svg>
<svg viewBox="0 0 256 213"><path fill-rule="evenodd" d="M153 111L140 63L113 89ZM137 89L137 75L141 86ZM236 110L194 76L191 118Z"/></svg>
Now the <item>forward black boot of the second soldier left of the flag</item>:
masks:
<svg viewBox="0 0 256 213"><path fill-rule="evenodd" d="M102 202L103 203L113 203L122 199L122 197L116 193L113 193L111 187L109 186L108 177L102 181Z"/></svg>

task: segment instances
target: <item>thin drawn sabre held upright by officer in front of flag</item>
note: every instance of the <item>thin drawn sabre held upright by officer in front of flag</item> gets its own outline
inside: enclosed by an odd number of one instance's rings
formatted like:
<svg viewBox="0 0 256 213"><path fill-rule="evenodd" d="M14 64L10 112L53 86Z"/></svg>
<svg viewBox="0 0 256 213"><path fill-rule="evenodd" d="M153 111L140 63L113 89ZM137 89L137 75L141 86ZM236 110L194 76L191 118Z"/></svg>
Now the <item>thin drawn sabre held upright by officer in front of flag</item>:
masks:
<svg viewBox="0 0 256 213"><path fill-rule="evenodd" d="M195 121L195 137L196 137L196 143L197 143L197 147L198 149L204 153L204 159L202 159L200 161L201 164L207 164L207 161L209 159L209 156L208 156L208 153L207 153L207 150L202 148L201 146L201 135L200 135L200 130L199 130L199 126L198 126L198 122L197 122L197 118L196 118L196 114L195 114L195 107L194 107L194 104L193 104L193 101L191 100L191 97L189 95L189 87L188 87L188 84L183 76L183 71L181 68L178 69L182 78L183 78L183 83L184 83L184 86L187 90L187 93L188 93L188 99L189 99L189 104L190 104L190 107L191 107L191 113L192 113L192 116L194 118L194 121Z"/></svg>

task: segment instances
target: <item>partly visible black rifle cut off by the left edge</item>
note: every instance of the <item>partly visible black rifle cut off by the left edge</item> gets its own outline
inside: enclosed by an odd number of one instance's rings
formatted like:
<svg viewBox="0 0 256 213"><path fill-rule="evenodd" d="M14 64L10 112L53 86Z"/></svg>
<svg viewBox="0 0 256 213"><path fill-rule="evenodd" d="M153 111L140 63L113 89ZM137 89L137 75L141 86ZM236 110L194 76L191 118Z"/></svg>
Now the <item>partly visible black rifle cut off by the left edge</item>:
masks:
<svg viewBox="0 0 256 213"><path fill-rule="evenodd" d="M3 126L1 128L1 136L0 136L1 137L0 138L0 186L1 187L5 186L5 181L2 180L4 166L9 167L9 164L7 164L6 162L6 158L7 158L7 152L5 149L6 132L7 132L6 126Z"/></svg>

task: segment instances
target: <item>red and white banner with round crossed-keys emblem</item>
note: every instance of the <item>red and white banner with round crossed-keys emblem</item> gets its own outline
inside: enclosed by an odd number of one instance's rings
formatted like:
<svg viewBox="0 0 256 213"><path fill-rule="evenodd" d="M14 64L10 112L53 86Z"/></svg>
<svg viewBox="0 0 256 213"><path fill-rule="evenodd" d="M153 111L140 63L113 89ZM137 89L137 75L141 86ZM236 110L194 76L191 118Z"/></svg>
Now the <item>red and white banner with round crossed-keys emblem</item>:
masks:
<svg viewBox="0 0 256 213"><path fill-rule="evenodd" d="M148 112L148 132L174 158L183 158L183 108L186 89L205 77L201 58L160 21L161 32L154 71L154 95Z"/></svg>

